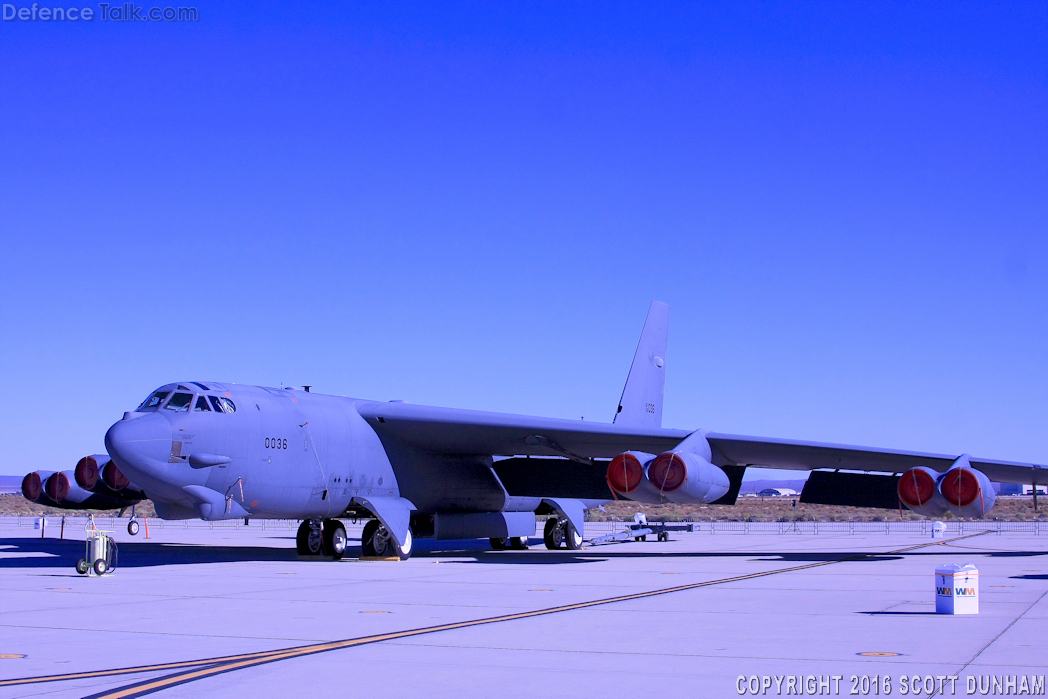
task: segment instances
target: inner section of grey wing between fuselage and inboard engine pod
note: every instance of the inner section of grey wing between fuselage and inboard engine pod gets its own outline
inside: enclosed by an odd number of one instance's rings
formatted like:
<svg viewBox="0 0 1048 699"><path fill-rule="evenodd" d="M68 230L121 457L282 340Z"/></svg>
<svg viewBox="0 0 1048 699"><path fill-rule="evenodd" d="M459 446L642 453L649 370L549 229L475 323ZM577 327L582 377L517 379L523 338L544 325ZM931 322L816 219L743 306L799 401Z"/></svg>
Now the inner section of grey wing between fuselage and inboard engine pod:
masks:
<svg viewBox="0 0 1048 699"><path fill-rule="evenodd" d="M362 402L356 410L379 435L438 454L612 458L631 450L659 454L691 434L405 402Z"/></svg>

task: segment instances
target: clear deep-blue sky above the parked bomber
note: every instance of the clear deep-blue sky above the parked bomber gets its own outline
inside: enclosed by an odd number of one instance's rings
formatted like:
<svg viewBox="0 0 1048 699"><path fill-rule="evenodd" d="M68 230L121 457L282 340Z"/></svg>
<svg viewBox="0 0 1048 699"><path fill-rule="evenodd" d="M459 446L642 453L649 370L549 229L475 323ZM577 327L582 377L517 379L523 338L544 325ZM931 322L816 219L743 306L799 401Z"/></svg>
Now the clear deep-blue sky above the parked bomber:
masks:
<svg viewBox="0 0 1048 699"><path fill-rule="evenodd" d="M1048 463L1045 2L196 6L0 23L0 473L178 379L607 421L652 299L670 427Z"/></svg>

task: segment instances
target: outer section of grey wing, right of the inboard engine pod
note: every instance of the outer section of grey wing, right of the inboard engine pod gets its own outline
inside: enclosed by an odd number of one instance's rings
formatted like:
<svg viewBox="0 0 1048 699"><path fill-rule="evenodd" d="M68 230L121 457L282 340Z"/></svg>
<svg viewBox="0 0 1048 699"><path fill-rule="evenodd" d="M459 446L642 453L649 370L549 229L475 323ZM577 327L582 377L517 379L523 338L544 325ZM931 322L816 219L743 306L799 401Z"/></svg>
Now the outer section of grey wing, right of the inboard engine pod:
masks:
<svg viewBox="0 0 1048 699"><path fill-rule="evenodd" d="M706 434L706 439L714 450L715 461L719 454L727 463L767 468L843 468L901 474L914 466L946 471L960 456L744 437L716 432ZM999 483L1048 483L1048 466L1044 465L975 458L971 459L971 465Z"/></svg>

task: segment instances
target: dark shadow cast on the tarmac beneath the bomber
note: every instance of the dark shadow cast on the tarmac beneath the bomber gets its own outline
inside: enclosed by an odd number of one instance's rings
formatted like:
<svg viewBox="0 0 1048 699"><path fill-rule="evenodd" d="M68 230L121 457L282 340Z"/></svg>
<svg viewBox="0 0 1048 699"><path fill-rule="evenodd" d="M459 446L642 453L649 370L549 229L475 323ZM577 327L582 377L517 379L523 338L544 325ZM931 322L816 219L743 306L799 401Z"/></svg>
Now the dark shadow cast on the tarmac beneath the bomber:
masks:
<svg viewBox="0 0 1048 699"><path fill-rule="evenodd" d="M327 559L300 556L291 544L290 538L272 537L288 541L287 548L268 546L227 546L199 545L178 543L151 543L146 541L122 542L117 549L118 568L149 568L154 566L191 565L202 563L235 563L235 562L329 562ZM541 544L540 544L541 546ZM855 559L854 563L877 563L881 561L897 561L899 554L878 554L870 551L615 551L611 546L594 546L580 551L493 551L487 542L459 541L435 542L419 540L415 543L413 558L454 559L449 563L459 564L501 564L501 565L564 565L578 563L596 563L614 559L631 560L673 560L673 559L746 559L752 562L766 563L821 563ZM81 541L58 541L54 539L2 539L0 551L5 555L0 558L0 569L72 569L77 560L84 555L84 543ZM44 554L44 555L41 555ZM346 551L347 559L355 559L361 554L358 546L351 546ZM929 555L940 556L941 552L908 551L907 556ZM1028 556L1045 555L1031 551L994 551L991 556ZM1045 580L1048 575L1021 575L1027 580Z"/></svg>

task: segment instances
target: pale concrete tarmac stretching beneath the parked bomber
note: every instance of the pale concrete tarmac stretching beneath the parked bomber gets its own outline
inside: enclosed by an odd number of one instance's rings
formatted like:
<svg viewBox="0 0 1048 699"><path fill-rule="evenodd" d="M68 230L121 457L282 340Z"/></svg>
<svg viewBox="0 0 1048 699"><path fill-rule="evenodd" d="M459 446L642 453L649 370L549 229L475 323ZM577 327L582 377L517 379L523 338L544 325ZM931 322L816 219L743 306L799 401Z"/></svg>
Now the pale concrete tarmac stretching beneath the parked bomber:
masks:
<svg viewBox="0 0 1048 699"><path fill-rule="evenodd" d="M289 529L169 526L117 532L99 578L73 571L70 533L0 526L0 655L24 656L0 658L0 697L737 697L740 676L799 675L840 676L823 696L957 675L942 694L964 696L967 675L1048 674L1044 534L419 541L407 562L357 561L355 541L332 562L298 556ZM978 615L934 613L943 563L978 566ZM99 672L132 667L151 669Z"/></svg>

